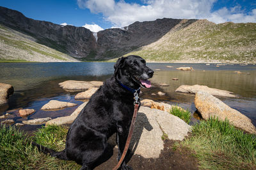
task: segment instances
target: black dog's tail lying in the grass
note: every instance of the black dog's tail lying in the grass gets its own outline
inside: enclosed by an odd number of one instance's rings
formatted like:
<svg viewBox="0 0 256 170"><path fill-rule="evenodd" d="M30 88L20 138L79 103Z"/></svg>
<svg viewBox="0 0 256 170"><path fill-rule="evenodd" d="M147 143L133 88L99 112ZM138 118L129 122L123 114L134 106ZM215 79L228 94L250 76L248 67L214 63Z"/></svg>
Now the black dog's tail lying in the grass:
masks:
<svg viewBox="0 0 256 170"><path fill-rule="evenodd" d="M52 157L57 157L58 159L68 160L66 150L62 150L61 152L56 152L55 150L52 150L50 148L47 148L42 145L38 145L35 142L32 142L33 146L36 146L40 152L43 152L45 154L50 153Z"/></svg>

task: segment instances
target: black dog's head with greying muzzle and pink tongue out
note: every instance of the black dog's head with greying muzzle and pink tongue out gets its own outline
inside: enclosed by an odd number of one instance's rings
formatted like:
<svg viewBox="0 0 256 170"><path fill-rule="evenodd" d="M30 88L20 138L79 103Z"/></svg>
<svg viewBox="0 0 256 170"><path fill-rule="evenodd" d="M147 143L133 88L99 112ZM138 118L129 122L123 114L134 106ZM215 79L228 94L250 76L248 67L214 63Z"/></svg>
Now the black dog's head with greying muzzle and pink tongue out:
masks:
<svg viewBox="0 0 256 170"><path fill-rule="evenodd" d="M148 78L152 78L154 71L146 66L146 61L137 55L121 57L114 66L115 77L129 87L151 87Z"/></svg>

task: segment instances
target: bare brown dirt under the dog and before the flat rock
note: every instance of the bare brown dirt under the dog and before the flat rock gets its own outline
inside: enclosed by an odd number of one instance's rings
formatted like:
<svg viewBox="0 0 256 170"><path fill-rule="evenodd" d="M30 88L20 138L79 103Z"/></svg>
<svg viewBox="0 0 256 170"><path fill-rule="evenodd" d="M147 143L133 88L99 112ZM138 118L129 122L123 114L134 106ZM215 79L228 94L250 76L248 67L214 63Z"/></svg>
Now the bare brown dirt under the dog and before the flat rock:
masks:
<svg viewBox="0 0 256 170"><path fill-rule="evenodd" d="M192 153L184 148L173 150L174 141L165 140L164 150L161 151L161 155L157 159L145 159L140 155L128 155L129 162L127 163L134 170L136 169L198 169L197 161L193 157ZM149 148L150 149L150 148ZM95 170L112 169L118 163L117 148L115 148L115 142L109 140L109 146L104 154L104 157L100 159L100 162L95 164Z"/></svg>

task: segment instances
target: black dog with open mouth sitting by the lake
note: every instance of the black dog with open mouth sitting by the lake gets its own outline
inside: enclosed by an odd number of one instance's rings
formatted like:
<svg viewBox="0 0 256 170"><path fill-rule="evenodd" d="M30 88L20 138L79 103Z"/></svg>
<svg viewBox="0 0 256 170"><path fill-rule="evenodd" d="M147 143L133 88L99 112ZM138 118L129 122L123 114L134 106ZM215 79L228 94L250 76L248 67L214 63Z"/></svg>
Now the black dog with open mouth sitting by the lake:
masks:
<svg viewBox="0 0 256 170"><path fill-rule="evenodd" d="M104 153L108 138L116 132L118 160L122 156L134 111L134 92L150 87L148 78L154 71L139 56L121 57L115 73L104 82L72 123L67 134L65 150L54 152L36 145L44 153L65 160L74 160L81 169L92 169L92 164ZM140 101L139 101L140 102ZM125 161L122 169L132 169Z"/></svg>

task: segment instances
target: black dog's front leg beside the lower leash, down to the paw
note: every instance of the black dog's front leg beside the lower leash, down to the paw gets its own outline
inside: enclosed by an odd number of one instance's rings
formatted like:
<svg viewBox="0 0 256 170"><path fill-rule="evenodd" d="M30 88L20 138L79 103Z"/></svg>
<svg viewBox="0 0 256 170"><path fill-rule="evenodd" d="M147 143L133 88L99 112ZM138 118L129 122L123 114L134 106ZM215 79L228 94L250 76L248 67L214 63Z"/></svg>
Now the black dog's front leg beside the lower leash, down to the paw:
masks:
<svg viewBox="0 0 256 170"><path fill-rule="evenodd" d="M117 132L116 132L116 144L118 146L118 156L117 160L119 161L122 157L122 153L124 152L125 143L129 134L129 128L124 128L121 125L116 125ZM129 155L130 150L128 149L127 155ZM125 156L127 158L127 156ZM122 166L122 169L125 170L131 170L132 167L126 165L126 159L124 159Z"/></svg>

